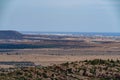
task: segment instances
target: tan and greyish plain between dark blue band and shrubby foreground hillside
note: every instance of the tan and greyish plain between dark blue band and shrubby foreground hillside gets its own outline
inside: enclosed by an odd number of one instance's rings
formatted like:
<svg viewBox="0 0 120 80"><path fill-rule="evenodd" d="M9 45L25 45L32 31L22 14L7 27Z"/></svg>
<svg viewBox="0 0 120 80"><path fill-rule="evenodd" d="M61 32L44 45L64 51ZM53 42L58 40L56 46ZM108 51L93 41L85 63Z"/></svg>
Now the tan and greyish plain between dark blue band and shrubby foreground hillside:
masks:
<svg viewBox="0 0 120 80"><path fill-rule="evenodd" d="M1 52L0 61L30 61L36 65L46 66L67 61L120 59L120 43L96 45L99 46L89 48L13 49L9 52Z"/></svg>

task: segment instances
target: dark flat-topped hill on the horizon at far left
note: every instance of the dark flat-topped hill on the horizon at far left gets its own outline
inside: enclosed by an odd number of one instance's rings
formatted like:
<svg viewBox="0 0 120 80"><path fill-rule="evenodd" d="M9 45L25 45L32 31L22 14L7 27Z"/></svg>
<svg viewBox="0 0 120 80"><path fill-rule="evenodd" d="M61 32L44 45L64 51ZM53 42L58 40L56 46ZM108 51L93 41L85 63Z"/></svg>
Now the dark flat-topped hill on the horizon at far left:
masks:
<svg viewBox="0 0 120 80"><path fill-rule="evenodd" d="M22 39L23 35L17 31L1 30L0 39Z"/></svg>

